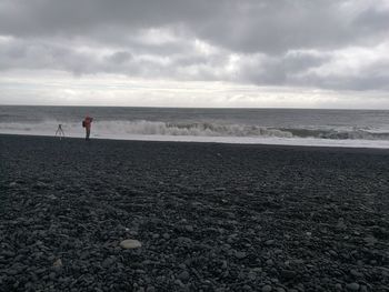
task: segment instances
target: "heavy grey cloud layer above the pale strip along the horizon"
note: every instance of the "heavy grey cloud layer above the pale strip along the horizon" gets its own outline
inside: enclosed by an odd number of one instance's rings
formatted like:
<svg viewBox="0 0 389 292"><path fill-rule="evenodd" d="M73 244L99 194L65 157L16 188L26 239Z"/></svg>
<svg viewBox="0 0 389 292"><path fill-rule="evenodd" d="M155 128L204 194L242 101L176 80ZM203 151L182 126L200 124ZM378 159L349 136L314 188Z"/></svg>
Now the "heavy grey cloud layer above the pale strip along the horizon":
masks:
<svg viewBox="0 0 389 292"><path fill-rule="evenodd" d="M388 52L386 0L0 0L3 73L387 92Z"/></svg>

